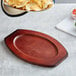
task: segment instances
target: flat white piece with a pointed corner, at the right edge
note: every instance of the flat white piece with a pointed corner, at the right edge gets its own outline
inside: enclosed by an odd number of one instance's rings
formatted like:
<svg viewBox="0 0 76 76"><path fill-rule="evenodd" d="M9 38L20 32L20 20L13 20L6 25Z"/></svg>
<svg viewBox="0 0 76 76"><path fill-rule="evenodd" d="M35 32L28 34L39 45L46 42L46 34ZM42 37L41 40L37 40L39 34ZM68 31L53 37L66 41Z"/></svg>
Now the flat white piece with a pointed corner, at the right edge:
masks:
<svg viewBox="0 0 76 76"><path fill-rule="evenodd" d="M76 27L74 25L74 20L71 16L67 17L58 25L56 25L56 28L70 35L76 36Z"/></svg>

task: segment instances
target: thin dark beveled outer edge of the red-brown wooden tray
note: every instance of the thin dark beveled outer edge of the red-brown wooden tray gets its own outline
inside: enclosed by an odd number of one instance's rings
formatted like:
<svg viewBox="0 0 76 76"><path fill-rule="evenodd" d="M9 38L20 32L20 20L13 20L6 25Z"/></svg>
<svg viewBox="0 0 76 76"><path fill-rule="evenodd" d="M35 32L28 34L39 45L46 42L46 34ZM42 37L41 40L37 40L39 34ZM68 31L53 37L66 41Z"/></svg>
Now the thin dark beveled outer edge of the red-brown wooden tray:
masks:
<svg viewBox="0 0 76 76"><path fill-rule="evenodd" d="M6 43L6 39L9 37L9 36L11 36L13 33L15 33L16 31L19 31L19 30L26 30L26 29L17 29L17 30L15 30L14 32L12 32L10 35L8 35L7 37L5 37L4 38L4 42L5 42L5 44L6 44L6 46L8 47L8 45L7 45L7 43ZM29 31L32 31L32 30L29 30ZM38 31L33 31L33 32L38 32ZM39 32L39 33L41 33L41 32ZM42 34L44 34L44 33L42 33ZM47 35L47 34L46 34ZM49 36L49 35L47 35L47 36ZM52 37L53 38L53 37ZM56 40L56 39L55 39ZM57 40L56 40L57 41ZM58 41L59 42L59 41ZM59 42L60 43L60 42ZM60 43L61 44L61 43ZM62 45L62 44L61 44ZM63 45L62 45L63 46ZM64 47L64 46L63 46ZM38 66L43 66L43 67L55 67L55 66L57 66L57 65L59 65L63 60L65 60L67 57L68 57L68 52L66 51L66 55L62 58L62 59L60 59L55 65L43 65L43 64L36 64L36 63L33 63L33 62L29 62L29 61L27 61L26 59L23 59L23 58L21 58L20 56L18 56L17 54L15 54L9 47L8 47L8 49L16 56L16 57L18 57L18 58L20 58L21 60L24 60L24 61L26 61L26 62L28 62L28 63L32 63L32 64L34 64L34 65L38 65ZM66 49L65 49L66 50Z"/></svg>

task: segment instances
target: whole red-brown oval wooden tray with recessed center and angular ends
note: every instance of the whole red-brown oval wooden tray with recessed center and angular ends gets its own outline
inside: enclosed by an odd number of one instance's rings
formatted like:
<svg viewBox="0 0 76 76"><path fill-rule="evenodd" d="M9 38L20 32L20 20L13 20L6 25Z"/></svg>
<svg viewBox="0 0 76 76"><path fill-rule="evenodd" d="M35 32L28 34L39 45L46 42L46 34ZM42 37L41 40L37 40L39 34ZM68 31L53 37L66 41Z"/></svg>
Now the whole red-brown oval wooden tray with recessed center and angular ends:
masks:
<svg viewBox="0 0 76 76"><path fill-rule="evenodd" d="M19 58L42 66L56 66L68 55L57 40L31 30L16 30L5 43Z"/></svg>

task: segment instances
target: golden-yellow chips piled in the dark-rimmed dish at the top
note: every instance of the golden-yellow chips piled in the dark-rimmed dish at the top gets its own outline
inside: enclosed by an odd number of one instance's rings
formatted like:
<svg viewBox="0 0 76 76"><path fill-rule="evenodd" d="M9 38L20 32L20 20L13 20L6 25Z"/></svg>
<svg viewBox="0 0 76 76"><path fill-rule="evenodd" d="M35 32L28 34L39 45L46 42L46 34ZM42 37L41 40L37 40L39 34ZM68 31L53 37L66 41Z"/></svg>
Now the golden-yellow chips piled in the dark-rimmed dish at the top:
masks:
<svg viewBox="0 0 76 76"><path fill-rule="evenodd" d="M52 0L4 0L4 3L26 11L41 11L53 6Z"/></svg>

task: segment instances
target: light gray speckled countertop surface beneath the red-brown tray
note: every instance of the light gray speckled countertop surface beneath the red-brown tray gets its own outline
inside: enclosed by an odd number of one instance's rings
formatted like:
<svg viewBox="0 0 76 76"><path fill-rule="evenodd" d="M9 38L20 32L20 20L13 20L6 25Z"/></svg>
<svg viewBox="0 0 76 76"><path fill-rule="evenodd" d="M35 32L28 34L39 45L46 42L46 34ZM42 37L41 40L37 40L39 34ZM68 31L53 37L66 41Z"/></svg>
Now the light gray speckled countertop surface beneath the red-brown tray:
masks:
<svg viewBox="0 0 76 76"><path fill-rule="evenodd" d="M0 76L75 76L76 37L55 29L76 4L55 4L43 12L29 12L21 17L6 16L0 8ZM46 33L67 49L69 56L55 68L46 68L20 60L5 46L4 38L16 29L30 29Z"/></svg>

